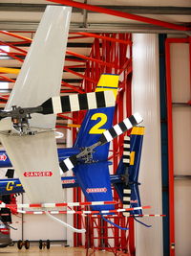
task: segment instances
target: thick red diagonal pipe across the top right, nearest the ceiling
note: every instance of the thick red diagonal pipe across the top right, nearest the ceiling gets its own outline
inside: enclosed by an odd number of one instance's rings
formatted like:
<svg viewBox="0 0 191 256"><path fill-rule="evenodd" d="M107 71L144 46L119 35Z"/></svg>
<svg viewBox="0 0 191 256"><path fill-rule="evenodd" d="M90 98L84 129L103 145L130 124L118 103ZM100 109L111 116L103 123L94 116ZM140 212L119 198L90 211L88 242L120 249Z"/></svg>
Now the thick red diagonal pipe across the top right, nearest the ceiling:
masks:
<svg viewBox="0 0 191 256"><path fill-rule="evenodd" d="M178 31L190 31L190 27L180 26L180 25L173 24L170 22L165 22L165 21L161 21L158 19L154 19L154 18L139 16L139 15L132 14L132 13L119 12L119 11L110 10L110 9L97 7L97 6L93 6L93 5L83 4L83 3L75 2L72 0L51 0L51 2L66 5L66 6L72 6L72 7L76 7L76 8L80 8L80 9L85 9L85 10L92 11L92 12L101 12L101 13L111 14L111 15L114 15L117 17L133 19L133 20L153 24L156 26L164 27L167 29L178 30Z"/></svg>

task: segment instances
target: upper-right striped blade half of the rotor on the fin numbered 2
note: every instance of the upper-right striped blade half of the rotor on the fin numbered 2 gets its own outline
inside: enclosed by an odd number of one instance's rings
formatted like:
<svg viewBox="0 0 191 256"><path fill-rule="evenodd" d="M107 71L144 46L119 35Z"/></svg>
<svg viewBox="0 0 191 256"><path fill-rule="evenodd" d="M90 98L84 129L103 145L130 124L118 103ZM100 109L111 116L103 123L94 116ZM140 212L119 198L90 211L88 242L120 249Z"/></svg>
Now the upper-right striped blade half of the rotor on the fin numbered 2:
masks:
<svg viewBox="0 0 191 256"><path fill-rule="evenodd" d="M142 122L142 118L138 113L130 116L129 118L125 118L122 122L114 126L113 128L107 129L101 135L99 141L101 145L112 141L118 135L122 134L126 130L137 126L139 123Z"/></svg>

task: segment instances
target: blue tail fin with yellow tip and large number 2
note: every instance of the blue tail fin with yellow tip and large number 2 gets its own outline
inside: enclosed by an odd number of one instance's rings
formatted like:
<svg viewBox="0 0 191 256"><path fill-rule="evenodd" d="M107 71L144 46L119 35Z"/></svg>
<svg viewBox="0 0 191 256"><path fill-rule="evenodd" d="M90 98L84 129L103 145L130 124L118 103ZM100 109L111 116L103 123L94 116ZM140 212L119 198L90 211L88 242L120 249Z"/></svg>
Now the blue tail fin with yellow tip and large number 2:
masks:
<svg viewBox="0 0 191 256"><path fill-rule="evenodd" d="M113 90L117 97L118 76L104 74L97 83L96 91ZM101 133L113 125L115 107L89 110L83 120L74 143L75 148L84 148L95 144ZM83 163L74 168L74 175L85 197L89 201L112 200L109 168L107 163L109 143L97 147L96 152L83 159ZM113 205L93 206L93 210L114 209Z"/></svg>

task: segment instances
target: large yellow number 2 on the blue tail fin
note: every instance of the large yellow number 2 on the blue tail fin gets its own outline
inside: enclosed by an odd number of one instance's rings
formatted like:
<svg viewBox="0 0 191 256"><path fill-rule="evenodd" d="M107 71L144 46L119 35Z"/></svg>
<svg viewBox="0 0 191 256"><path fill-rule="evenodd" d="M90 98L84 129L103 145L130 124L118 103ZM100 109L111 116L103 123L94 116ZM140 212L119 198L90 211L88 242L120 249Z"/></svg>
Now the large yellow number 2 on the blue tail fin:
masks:
<svg viewBox="0 0 191 256"><path fill-rule="evenodd" d="M90 129L89 134L101 134L105 131L105 128L101 128L107 122L107 115L104 113L96 113L92 116L91 120L97 120L100 118L100 121L96 123L96 125Z"/></svg>

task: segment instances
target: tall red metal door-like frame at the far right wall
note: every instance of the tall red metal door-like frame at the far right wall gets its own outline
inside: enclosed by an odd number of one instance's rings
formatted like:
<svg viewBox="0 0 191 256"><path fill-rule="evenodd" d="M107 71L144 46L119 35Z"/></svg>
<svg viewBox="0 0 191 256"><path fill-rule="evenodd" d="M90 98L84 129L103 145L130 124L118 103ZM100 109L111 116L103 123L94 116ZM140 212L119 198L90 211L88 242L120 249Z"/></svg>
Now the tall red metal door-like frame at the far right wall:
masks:
<svg viewBox="0 0 191 256"><path fill-rule="evenodd" d="M168 125L168 182L169 182L169 239L170 256L175 255L175 213L174 213L174 148L173 148L173 118L172 118L172 89L170 44L189 43L189 57L191 67L191 40L187 38L167 38L165 41L166 57L166 95L167 95L167 125ZM191 78L191 68L190 68ZM190 80L191 81L191 80ZM191 96L191 95L190 95ZM188 103L189 104L189 103Z"/></svg>

